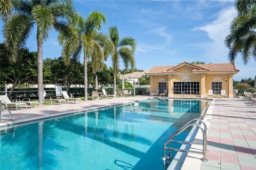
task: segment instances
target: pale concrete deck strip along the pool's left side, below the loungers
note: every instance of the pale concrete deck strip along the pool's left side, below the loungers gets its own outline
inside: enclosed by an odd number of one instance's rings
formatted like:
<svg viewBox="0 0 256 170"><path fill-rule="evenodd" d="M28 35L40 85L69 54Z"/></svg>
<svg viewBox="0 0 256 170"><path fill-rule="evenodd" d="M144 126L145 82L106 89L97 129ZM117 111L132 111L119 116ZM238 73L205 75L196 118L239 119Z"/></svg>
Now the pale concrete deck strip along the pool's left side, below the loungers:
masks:
<svg viewBox="0 0 256 170"><path fill-rule="evenodd" d="M118 104L130 103L132 101L143 100L152 98L151 96L135 96L135 97L118 97L111 99L101 99L101 100L89 100L82 101L78 103L70 103L70 104L61 104L61 105L44 105L42 107L35 107L28 109L11 109L12 114L15 117L15 124L22 123L27 121L38 121L43 118L51 118L55 116L67 115L70 113L78 113L82 111L89 111L91 109L103 108ZM10 115L6 111L2 111L2 118L11 118ZM4 126L8 123L12 123L10 121L2 121L0 126Z"/></svg>

